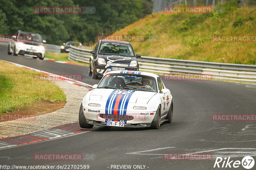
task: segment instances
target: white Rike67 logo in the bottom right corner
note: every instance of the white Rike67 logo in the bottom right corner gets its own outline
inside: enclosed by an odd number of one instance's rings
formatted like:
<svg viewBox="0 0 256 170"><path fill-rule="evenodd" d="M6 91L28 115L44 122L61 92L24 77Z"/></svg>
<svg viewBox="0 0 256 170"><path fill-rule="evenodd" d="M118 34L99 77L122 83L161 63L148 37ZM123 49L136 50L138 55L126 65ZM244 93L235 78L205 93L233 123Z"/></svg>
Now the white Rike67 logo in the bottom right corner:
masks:
<svg viewBox="0 0 256 170"><path fill-rule="evenodd" d="M217 157L214 163L214 168L238 168L241 165L245 169L251 169L254 166L254 159L251 156L245 156L242 161L240 160L230 160L230 157L225 157L224 159L221 157Z"/></svg>

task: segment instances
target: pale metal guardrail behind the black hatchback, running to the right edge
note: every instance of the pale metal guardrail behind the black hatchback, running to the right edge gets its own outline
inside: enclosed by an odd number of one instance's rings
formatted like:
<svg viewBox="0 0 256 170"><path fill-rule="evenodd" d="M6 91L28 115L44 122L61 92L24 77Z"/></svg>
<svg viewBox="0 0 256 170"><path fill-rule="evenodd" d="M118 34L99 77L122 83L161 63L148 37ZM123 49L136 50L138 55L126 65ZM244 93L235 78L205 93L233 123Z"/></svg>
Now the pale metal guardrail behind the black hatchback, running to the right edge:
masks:
<svg viewBox="0 0 256 170"><path fill-rule="evenodd" d="M70 46L68 59L89 63L91 50ZM202 74L213 79L256 82L256 65L216 63L194 60L178 60L141 56L140 71L160 74Z"/></svg>

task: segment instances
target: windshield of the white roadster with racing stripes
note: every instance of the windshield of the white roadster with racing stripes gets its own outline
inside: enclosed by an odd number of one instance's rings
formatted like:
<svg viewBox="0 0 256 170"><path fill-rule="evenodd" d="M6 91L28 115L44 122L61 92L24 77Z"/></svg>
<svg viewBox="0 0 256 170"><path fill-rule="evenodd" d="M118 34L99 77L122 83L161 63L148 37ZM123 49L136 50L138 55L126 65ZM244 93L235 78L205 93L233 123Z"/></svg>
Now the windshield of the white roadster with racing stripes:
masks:
<svg viewBox="0 0 256 170"><path fill-rule="evenodd" d="M106 74L98 88L156 92L156 80L145 75Z"/></svg>

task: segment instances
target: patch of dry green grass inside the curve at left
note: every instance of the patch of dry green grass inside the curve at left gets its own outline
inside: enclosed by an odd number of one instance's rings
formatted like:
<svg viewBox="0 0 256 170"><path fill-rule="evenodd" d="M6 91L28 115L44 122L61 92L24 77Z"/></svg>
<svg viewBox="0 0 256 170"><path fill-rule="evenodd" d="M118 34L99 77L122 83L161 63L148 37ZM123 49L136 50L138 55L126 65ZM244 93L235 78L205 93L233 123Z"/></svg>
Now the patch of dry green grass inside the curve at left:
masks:
<svg viewBox="0 0 256 170"><path fill-rule="evenodd" d="M46 75L0 61L0 116L39 100L66 101L59 86L37 76Z"/></svg>

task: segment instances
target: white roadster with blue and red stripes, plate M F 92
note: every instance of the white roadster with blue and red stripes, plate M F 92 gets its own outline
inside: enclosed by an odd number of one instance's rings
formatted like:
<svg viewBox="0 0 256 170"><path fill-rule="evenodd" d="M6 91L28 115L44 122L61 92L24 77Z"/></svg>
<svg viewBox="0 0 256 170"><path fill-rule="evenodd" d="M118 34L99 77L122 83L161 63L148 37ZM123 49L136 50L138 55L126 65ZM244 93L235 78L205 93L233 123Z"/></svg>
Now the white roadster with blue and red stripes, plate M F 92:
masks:
<svg viewBox="0 0 256 170"><path fill-rule="evenodd" d="M84 96L79 125L151 127L171 123L172 94L161 78L140 71L110 71Z"/></svg>

